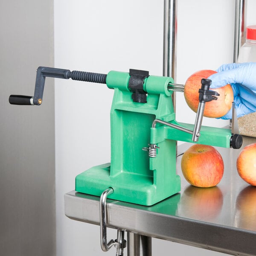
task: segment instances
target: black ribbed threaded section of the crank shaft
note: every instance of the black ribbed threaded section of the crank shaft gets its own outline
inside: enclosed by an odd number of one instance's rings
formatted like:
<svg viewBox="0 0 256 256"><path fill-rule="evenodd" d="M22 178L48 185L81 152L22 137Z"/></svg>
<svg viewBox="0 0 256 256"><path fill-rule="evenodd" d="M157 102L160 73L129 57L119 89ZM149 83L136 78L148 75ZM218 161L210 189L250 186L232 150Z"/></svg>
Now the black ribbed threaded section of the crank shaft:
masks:
<svg viewBox="0 0 256 256"><path fill-rule="evenodd" d="M77 80L77 81L105 84L106 77L107 77L106 74L90 73L90 72L76 71L76 70L71 72L71 79Z"/></svg>

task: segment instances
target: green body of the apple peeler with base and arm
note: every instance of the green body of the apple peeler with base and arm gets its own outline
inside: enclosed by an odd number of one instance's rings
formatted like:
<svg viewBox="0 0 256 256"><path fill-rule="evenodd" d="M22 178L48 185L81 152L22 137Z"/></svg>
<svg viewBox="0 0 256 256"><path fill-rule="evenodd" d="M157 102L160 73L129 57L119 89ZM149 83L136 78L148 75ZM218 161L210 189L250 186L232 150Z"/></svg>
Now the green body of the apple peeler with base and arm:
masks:
<svg viewBox="0 0 256 256"><path fill-rule="evenodd" d="M76 191L100 196L112 187L111 199L134 204L153 205L180 191L176 174L176 140L192 142L192 135L154 119L175 121L170 77L149 76L144 80L147 103L133 102L128 88L129 73L111 71L106 83L114 89L111 107L111 163L94 166L76 177ZM193 125L179 124L193 129ZM221 137L221 138L220 138ZM198 143L230 147L228 129L202 127ZM218 141L217 139L218 138ZM148 156L142 148L157 144L157 156Z"/></svg>

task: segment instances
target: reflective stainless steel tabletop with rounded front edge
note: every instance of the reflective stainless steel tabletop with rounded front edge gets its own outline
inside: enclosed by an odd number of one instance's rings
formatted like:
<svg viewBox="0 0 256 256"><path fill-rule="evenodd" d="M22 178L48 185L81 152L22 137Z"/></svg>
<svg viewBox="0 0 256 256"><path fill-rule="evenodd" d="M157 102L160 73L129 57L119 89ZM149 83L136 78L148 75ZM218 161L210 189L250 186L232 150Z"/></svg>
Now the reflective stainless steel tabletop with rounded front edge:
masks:
<svg viewBox="0 0 256 256"><path fill-rule="evenodd" d="M256 139L244 137L243 147L250 143ZM191 145L183 144L178 151ZM241 149L216 148L225 165L218 186L189 185L179 156L180 193L150 207L108 199L108 227L233 255L256 255L256 187L236 171ZM99 197L72 191L64 195L64 202L67 217L99 225Z"/></svg>

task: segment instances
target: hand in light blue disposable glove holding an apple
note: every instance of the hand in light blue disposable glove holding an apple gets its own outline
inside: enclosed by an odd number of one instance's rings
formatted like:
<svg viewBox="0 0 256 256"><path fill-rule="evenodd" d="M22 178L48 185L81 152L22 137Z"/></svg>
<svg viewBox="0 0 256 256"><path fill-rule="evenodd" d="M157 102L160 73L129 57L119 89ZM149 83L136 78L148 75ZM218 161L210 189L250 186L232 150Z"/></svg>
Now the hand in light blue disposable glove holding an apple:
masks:
<svg viewBox="0 0 256 256"><path fill-rule="evenodd" d="M256 112L256 62L224 64L209 76L210 89L230 84L238 117ZM232 109L221 119L231 119Z"/></svg>

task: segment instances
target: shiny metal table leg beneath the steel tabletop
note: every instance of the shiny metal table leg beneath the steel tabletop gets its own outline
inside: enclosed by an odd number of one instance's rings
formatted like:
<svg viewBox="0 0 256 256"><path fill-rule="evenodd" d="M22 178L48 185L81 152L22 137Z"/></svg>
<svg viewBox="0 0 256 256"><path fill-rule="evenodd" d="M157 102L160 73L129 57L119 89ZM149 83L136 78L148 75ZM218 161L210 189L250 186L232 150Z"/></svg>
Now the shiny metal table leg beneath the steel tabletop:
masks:
<svg viewBox="0 0 256 256"><path fill-rule="evenodd" d="M151 237L127 232L128 256L151 256Z"/></svg>

